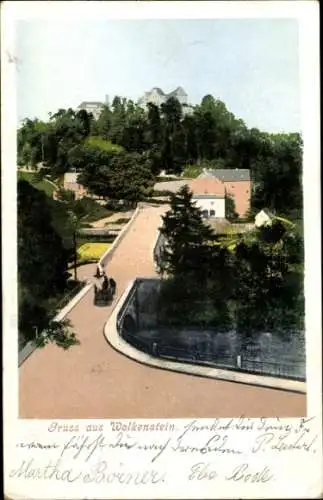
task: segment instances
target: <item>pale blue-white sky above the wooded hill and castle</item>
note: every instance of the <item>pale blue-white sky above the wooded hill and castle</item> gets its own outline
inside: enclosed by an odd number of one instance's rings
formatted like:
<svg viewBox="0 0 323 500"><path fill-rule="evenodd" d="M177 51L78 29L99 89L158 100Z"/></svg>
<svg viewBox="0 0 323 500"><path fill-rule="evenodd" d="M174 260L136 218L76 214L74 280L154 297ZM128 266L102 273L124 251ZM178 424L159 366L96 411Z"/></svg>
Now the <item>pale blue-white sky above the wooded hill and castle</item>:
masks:
<svg viewBox="0 0 323 500"><path fill-rule="evenodd" d="M289 19L17 22L18 119L182 86L248 127L300 131L298 24Z"/></svg>

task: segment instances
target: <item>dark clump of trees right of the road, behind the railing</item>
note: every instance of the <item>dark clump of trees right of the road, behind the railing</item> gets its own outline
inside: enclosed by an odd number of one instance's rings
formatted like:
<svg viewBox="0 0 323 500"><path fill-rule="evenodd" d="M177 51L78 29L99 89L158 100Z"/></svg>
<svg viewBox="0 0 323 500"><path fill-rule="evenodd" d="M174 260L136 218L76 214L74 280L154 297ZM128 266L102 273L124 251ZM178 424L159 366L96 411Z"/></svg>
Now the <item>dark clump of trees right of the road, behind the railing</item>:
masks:
<svg viewBox="0 0 323 500"><path fill-rule="evenodd" d="M183 188L163 218L161 320L243 336L302 329L303 243L294 224L275 218L228 244L209 233L198 212Z"/></svg>

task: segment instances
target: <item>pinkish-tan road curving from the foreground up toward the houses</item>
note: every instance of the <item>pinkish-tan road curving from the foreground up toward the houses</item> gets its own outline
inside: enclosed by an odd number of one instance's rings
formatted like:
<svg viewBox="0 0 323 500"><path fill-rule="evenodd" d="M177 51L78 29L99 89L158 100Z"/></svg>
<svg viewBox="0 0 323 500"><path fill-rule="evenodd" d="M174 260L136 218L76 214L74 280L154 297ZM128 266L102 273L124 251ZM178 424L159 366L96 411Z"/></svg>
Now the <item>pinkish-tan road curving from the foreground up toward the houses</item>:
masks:
<svg viewBox="0 0 323 500"><path fill-rule="evenodd" d="M118 297L136 276L155 275L152 251L165 207L146 206L120 243L107 273ZM79 270L91 278L93 265ZM113 304L114 305L114 304ZM19 369L21 418L293 417L306 414L306 396L218 381L141 365L106 342L111 307L95 307L91 290L71 311L81 342L67 351L48 345Z"/></svg>

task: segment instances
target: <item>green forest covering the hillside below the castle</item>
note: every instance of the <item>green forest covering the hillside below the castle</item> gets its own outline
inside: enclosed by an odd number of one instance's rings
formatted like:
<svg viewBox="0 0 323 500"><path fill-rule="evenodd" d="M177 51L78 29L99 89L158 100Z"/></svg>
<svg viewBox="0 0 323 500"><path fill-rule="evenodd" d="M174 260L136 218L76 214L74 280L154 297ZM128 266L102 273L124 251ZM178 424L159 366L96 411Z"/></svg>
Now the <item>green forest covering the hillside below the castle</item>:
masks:
<svg viewBox="0 0 323 500"><path fill-rule="evenodd" d="M27 119L18 130L18 164L42 164L53 179L79 172L90 193L130 203L151 193L161 171L189 177L203 167L247 168L252 210L266 207L294 218L302 208L300 134L249 129L211 95L191 114L174 98L144 111L115 97L98 120L72 109L47 122Z"/></svg>

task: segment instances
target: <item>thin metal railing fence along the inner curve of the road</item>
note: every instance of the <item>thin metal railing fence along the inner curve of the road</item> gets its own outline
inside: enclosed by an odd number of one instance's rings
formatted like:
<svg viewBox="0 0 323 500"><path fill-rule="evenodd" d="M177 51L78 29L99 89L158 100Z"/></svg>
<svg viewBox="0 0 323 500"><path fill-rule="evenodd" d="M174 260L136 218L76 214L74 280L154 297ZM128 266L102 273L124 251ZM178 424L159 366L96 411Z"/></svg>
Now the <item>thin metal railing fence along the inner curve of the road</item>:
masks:
<svg viewBox="0 0 323 500"><path fill-rule="evenodd" d="M194 363L212 368L223 368L299 381L306 379L305 360L295 359L293 362L285 360L272 362L261 358L259 352L257 352L257 355L252 356L250 353L240 350L235 355L231 355L212 352L212 350L203 352L200 346L196 345L193 348L175 346L166 343L162 329L158 328L159 325L154 329L154 334L147 335L146 332L146 335L143 335L140 331L142 321L140 319L141 307L139 301L141 295L138 293L138 289L146 281L151 282L152 280L135 280L117 316L119 335L133 347L152 356L177 362Z"/></svg>

